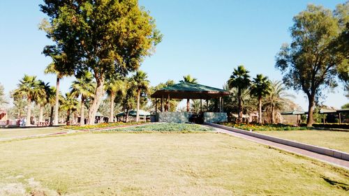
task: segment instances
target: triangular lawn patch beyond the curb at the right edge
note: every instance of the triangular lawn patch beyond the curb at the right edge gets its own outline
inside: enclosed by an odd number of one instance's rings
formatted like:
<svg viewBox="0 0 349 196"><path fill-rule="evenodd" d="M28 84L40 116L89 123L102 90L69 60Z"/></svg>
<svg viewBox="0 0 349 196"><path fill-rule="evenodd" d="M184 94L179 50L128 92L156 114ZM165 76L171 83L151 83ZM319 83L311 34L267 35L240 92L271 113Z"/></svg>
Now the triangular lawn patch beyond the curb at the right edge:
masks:
<svg viewBox="0 0 349 196"><path fill-rule="evenodd" d="M285 130L285 131L256 131L265 135L281 137L329 149L336 149L349 153L349 132L329 130Z"/></svg>

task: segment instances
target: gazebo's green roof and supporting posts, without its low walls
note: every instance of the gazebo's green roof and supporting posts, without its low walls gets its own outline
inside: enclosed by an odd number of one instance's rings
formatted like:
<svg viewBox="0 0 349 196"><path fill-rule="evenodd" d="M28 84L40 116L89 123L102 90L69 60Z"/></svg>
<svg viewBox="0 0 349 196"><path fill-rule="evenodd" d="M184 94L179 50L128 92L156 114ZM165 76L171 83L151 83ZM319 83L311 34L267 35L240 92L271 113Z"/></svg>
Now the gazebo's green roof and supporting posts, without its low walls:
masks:
<svg viewBox="0 0 349 196"><path fill-rule="evenodd" d="M167 86L163 89L159 89L151 95L151 98L155 98L156 113L158 108L158 99L160 99L161 109L160 112L170 111L171 99L197 99L200 100L200 112L202 112L202 100L206 101L206 111L209 108L209 100L218 100L218 110L223 112L223 97L228 96L229 91L223 89L217 89L211 86L205 86L202 84L194 84L191 82L180 82L171 86ZM165 107L164 107L165 105ZM189 112L189 108L187 108Z"/></svg>

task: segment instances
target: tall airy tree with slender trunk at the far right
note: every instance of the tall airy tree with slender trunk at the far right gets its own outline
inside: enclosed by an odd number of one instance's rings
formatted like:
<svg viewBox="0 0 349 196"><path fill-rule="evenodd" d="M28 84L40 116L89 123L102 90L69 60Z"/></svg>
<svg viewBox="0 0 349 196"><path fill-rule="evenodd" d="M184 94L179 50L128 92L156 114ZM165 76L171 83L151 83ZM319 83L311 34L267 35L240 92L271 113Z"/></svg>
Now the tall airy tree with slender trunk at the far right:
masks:
<svg viewBox="0 0 349 196"><path fill-rule="evenodd" d="M276 55L275 66L283 73L285 85L308 97L307 126L313 124L314 105L321 91L337 86L337 76L347 80L343 75L349 74L348 45L339 40L341 27L334 13L322 6L307 6L293 17L292 43L284 44ZM342 19L348 20L347 15Z"/></svg>

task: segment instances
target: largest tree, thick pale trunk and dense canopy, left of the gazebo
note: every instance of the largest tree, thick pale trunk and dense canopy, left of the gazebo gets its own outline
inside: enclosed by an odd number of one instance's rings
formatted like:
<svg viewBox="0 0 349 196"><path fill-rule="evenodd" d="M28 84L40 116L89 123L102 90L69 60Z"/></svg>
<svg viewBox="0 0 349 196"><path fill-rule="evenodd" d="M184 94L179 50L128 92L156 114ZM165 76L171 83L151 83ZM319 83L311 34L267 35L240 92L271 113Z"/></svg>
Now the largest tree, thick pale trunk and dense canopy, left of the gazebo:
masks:
<svg viewBox="0 0 349 196"><path fill-rule="evenodd" d="M89 69L96 78L89 124L104 95L107 75L138 70L145 56L161 42L161 33L138 0L44 0L41 10L49 18L41 29L77 69Z"/></svg>

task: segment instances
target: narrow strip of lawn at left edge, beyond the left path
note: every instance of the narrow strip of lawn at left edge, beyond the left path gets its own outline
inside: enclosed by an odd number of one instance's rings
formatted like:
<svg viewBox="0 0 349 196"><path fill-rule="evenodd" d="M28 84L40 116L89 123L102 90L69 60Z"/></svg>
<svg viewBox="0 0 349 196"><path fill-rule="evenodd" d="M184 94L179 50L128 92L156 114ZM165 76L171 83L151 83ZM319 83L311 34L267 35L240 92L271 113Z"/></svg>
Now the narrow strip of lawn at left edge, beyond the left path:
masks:
<svg viewBox="0 0 349 196"><path fill-rule="evenodd" d="M8 128L8 129L0 129L0 140L8 139L10 137L23 137L29 135L40 135L47 133L59 133L66 132L66 130L62 130L60 128Z"/></svg>

